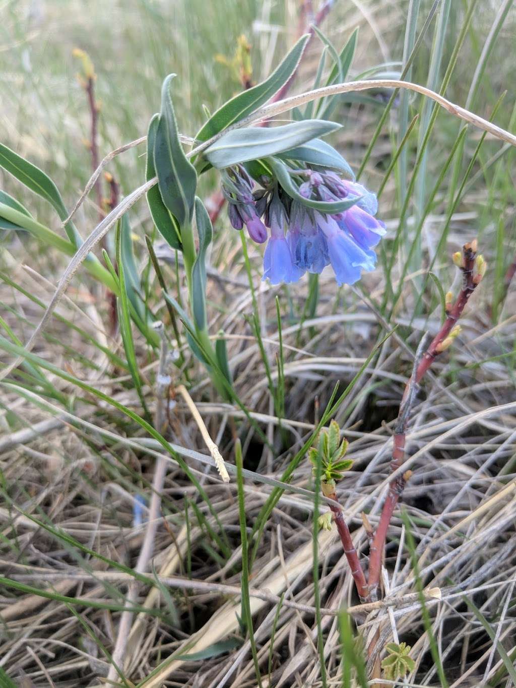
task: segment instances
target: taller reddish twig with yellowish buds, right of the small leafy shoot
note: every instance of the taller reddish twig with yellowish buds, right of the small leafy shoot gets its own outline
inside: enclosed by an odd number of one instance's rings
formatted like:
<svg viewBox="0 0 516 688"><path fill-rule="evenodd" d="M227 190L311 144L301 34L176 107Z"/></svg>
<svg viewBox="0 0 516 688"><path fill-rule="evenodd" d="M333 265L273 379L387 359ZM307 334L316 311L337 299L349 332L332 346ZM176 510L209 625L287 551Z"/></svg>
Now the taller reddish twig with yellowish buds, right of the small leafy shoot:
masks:
<svg viewBox="0 0 516 688"><path fill-rule="evenodd" d="M418 353L416 353L416 358L414 360L413 372L409 382L407 383L407 386L405 387L405 392L403 393L400 403L400 412L398 414L398 422L396 424L396 430L394 433L394 449L392 452L391 472L396 471L405 461L405 432L407 430L407 422L409 420L409 415L413 405L413 400L416 395L418 383L420 383L420 380L427 372L436 356L445 351L453 342L453 328L462 315L464 307L466 306L466 303L468 303L471 294L473 294L475 287L480 284L480 281L482 280L485 264L481 256L479 256L480 263L478 266L478 272L476 275L473 275L476 251L477 242L475 240L471 241L469 244L464 244L462 248L462 259L460 254L455 254L454 261L456 261L456 264L458 264L463 274L462 290L460 291L460 294L458 295L458 298L453 306L450 305L450 307L447 308L447 319L444 321L438 334L436 334L436 336L433 338L428 349L423 355L422 351L424 350L424 340L426 335L418 347ZM387 530L389 528L394 509L396 508L400 496L405 488L405 483L407 482L409 474L410 472L407 471L407 473L399 476L396 478L396 480L392 480L389 484L389 491L387 492L387 497L383 504L382 513L378 522L378 528L376 528L376 533L374 534L374 539L370 548L368 578L369 601L378 599L378 586L380 583L382 555L385 546L385 540L387 538Z"/></svg>

